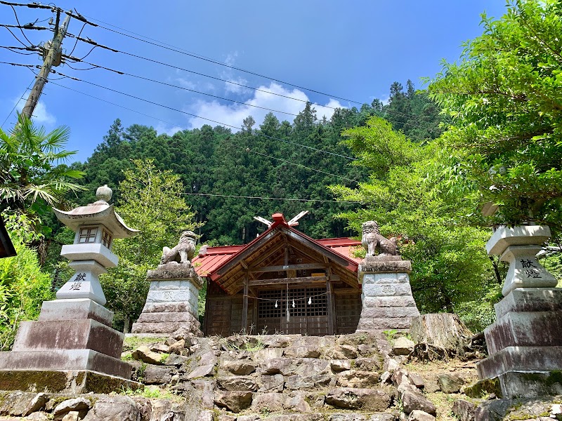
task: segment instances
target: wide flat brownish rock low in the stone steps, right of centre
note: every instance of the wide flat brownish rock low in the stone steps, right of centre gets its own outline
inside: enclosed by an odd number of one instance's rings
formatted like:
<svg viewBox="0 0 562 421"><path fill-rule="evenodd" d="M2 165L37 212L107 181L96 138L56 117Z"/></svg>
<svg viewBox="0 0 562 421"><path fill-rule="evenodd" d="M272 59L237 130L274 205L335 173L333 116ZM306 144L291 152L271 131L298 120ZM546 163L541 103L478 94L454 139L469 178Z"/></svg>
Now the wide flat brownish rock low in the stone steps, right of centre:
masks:
<svg viewBox="0 0 562 421"><path fill-rule="evenodd" d="M392 396L381 389L341 387L329 390L326 394L325 402L335 408L381 412L391 406Z"/></svg>

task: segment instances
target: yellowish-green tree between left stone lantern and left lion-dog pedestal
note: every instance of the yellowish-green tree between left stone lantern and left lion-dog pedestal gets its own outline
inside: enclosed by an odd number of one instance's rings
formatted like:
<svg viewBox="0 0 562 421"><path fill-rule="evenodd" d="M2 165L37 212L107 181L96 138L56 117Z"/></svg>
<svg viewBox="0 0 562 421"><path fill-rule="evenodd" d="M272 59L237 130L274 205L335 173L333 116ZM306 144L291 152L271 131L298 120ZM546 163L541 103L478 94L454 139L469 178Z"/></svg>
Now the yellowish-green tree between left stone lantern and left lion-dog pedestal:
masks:
<svg viewBox="0 0 562 421"><path fill-rule="evenodd" d="M181 232L195 230L195 213L183 199L179 175L159 171L154 161L133 160L119 184L117 213L129 227L141 229L130 239L115 240L112 250L119 265L100 277L107 307L115 312L115 326L129 331L145 304L148 269L159 263L164 246L177 243Z"/></svg>

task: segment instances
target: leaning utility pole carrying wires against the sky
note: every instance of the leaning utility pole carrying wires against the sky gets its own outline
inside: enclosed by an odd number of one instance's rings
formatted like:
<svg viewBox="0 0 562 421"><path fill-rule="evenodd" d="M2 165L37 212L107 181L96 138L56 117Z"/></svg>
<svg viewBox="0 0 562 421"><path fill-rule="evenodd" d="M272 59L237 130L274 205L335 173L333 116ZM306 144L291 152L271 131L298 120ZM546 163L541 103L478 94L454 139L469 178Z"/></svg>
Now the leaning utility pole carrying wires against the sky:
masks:
<svg viewBox="0 0 562 421"><path fill-rule="evenodd" d="M27 116L28 119L31 118L37 102L39 102L39 97L41 92L43 92L43 87L47 82L48 75L51 73L51 67L60 65L60 57L62 54L60 45L63 44L63 38L66 35L68 24L70 22L70 15L66 15L63 25L59 27L60 22L60 8L57 9L57 20L55 25L55 34L51 45L47 51L44 58L43 66L41 66L41 71L35 78L35 84L30 92L30 96L25 102L25 107L22 109L22 114Z"/></svg>

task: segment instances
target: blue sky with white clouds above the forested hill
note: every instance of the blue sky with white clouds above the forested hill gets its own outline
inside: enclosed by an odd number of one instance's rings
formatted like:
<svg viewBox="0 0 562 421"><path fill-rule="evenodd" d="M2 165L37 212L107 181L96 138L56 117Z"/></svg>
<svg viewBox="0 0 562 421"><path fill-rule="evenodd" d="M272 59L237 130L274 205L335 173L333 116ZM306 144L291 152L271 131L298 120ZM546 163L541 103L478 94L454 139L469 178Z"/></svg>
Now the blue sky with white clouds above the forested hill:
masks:
<svg viewBox="0 0 562 421"><path fill-rule="evenodd" d="M323 108L322 105L353 107L357 104L346 100L367 103L374 98L385 100L393 81L405 85L407 79L412 79L419 88L421 77L436 74L442 59L457 60L462 51L462 42L481 34L481 13L486 11L488 15L499 18L504 13L505 2L98 0L57 1L56 4L65 10L76 7L81 15L92 22L119 32L123 31L117 27L129 31L127 34L135 32L205 58L328 94L321 95L287 83L238 72L89 25L84 28L82 36L99 44L261 91L101 48L94 49L84 60L242 104L103 69L81 71L67 65L55 67L56 71L68 76L239 127L242 119L249 114L254 116L257 123L261 123L263 115L267 113L248 104L289 113L275 114L280 120L292 121L294 116L291 114L298 113L306 100L315 103L319 116L329 116L332 109ZM16 8L16 11L22 24L51 17L50 11L23 7ZM0 5L0 23L15 24L10 7ZM37 25L46 24L37 22ZM77 34L81 26L77 20L71 20L69 32ZM5 28L0 29L1 46L21 46ZM18 29L12 30L27 44ZM52 36L47 31L25 33L33 44ZM70 37L63 42L67 53L72 51L74 42ZM79 43L72 55L81 58L90 49L91 46ZM0 61L41 64L35 55L20 55L3 48L0 49ZM83 64L72 66L91 67ZM91 155L116 118L122 119L124 126L141 123L155 127L159 133L169 134L181 128L195 128L209 123L83 81L56 80L59 77L55 74L51 76L52 83L47 83L35 115L37 123L44 125L47 130L60 125L70 126L72 135L67 148L78 151L74 156L77 161L84 161ZM15 121L15 112L10 114L11 109L19 98L27 98L27 93L22 94L33 79L30 69L0 64L0 123L5 131ZM301 101L271 95L269 92ZM211 125L216 126L216 123Z"/></svg>

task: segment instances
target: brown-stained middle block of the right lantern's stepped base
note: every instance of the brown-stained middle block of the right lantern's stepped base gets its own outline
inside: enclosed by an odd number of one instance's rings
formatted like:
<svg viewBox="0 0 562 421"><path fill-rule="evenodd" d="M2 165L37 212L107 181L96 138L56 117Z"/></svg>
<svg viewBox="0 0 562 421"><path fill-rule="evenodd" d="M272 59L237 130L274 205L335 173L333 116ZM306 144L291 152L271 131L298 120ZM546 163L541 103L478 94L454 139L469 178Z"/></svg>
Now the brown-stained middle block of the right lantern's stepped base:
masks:
<svg viewBox="0 0 562 421"><path fill-rule="evenodd" d="M562 346L562 311L509 312L485 328L490 355L506 347Z"/></svg>

